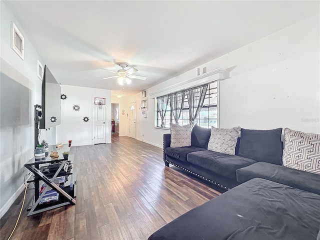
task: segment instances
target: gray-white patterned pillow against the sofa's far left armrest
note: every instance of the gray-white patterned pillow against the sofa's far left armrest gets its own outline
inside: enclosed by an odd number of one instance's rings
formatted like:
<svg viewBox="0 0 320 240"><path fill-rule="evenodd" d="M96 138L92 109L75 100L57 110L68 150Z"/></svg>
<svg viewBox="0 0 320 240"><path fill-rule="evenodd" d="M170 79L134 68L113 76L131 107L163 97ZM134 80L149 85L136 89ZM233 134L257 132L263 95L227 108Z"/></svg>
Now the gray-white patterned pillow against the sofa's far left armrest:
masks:
<svg viewBox="0 0 320 240"><path fill-rule="evenodd" d="M181 147L191 145L191 127L190 125L170 124L171 142L170 147Z"/></svg>

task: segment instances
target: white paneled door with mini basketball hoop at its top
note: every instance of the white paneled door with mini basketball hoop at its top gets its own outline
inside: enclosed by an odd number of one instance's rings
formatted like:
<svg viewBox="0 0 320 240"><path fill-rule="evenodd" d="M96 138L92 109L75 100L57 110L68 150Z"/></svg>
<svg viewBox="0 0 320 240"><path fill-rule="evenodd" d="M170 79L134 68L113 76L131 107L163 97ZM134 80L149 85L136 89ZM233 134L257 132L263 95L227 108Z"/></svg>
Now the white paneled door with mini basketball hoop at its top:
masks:
<svg viewBox="0 0 320 240"><path fill-rule="evenodd" d="M93 102L94 122L93 122L93 143L105 143L105 98L94 97Z"/></svg>

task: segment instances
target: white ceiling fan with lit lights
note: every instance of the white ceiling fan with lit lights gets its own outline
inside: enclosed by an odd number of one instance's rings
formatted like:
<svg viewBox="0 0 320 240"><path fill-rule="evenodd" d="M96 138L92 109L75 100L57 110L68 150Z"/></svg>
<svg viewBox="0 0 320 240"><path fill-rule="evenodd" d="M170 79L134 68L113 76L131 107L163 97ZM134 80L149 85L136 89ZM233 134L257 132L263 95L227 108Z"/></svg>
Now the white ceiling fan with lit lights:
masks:
<svg viewBox="0 0 320 240"><path fill-rule="evenodd" d="M108 78L113 78L113 77L117 77L118 79L118 83L120 85L123 85L123 83L129 84L131 82L131 78L135 78L135 79L139 79L139 80L145 80L146 76L139 76L139 75L134 75L133 73L136 72L138 69L134 68L134 67L130 67L129 69L124 69L125 67L128 66L127 63L125 62L119 62L117 63L117 65L119 65L120 67L122 67L122 69L119 69L117 71L111 71L109 69L106 68L101 68L107 71L110 71L112 73L116 73L116 76L108 76L108 77L104 77L102 79L108 79Z"/></svg>

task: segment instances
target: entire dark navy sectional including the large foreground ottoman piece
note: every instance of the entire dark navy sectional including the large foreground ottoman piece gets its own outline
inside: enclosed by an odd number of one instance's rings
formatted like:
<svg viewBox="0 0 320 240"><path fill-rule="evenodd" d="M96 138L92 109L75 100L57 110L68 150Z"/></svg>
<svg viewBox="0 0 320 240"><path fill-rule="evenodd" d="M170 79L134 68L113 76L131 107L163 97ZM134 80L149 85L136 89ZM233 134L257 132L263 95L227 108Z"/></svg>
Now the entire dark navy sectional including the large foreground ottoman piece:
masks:
<svg viewBox="0 0 320 240"><path fill-rule="evenodd" d="M193 127L191 146L185 147L170 147L170 134L164 134L166 166L173 164L227 191L148 240L320 240L320 174L282 165L281 132L241 129L235 155L206 149L210 129ZM318 143L313 145L312 154L318 154Z"/></svg>

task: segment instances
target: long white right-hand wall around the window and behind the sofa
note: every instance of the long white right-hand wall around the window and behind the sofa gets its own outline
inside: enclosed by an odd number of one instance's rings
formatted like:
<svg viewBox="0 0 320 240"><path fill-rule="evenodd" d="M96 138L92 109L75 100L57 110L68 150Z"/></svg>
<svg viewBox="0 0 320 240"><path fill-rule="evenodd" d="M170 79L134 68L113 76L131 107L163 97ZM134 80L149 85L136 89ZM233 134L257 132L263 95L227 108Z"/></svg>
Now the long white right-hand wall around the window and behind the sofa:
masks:
<svg viewBox="0 0 320 240"><path fill-rule="evenodd" d="M320 133L319 42L317 14L198 66L201 72L203 67L229 72L230 77L220 81L220 127ZM195 68L150 87L146 95L194 76ZM139 103L140 95L128 102ZM137 114L136 138L162 147L167 132L154 128L154 99L149 98L147 118Z"/></svg>

